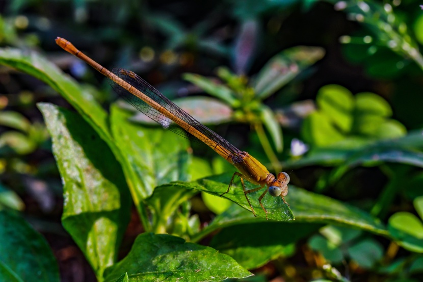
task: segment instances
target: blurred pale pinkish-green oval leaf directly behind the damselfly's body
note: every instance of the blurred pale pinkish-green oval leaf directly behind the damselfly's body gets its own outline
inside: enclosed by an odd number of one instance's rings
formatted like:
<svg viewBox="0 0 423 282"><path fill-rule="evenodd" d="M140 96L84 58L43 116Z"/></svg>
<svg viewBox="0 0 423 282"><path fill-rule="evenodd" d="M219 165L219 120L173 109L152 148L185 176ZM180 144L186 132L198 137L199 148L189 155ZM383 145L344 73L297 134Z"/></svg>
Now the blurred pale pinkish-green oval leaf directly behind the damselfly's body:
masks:
<svg viewBox="0 0 423 282"><path fill-rule="evenodd" d="M175 99L173 102L196 120L206 125L228 122L232 118L232 109L215 98L195 96ZM132 106L129 105L129 107ZM137 115L131 117L131 121L157 125L154 120L136 111L135 108L133 109L137 112Z"/></svg>

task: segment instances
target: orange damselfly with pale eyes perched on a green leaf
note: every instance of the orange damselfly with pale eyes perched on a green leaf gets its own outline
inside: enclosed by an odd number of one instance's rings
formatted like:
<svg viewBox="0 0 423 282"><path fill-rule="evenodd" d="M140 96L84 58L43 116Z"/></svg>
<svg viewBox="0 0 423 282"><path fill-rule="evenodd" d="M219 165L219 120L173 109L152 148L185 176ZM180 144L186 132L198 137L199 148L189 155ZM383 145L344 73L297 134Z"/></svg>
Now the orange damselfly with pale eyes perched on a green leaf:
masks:
<svg viewBox="0 0 423 282"><path fill-rule="evenodd" d="M114 68L110 71L76 49L72 43L64 38L58 37L56 43L70 54L80 58L100 73L107 76L112 88L139 111L179 135L186 136L184 131L187 131L235 166L240 172L233 173L229 187L222 195L229 192L235 175L238 175L241 178L245 198L254 216L256 216L256 214L247 194L259 191L266 186L268 189L258 198L261 208L266 213L266 218L268 211L261 203L261 199L267 192L275 197L281 196L283 202L286 204L284 196L288 194L287 184L289 183L289 175L286 172L280 172L277 177L275 177L275 175L270 173L265 166L250 156L248 152L237 149L223 137L195 120L134 72L122 68ZM260 185L260 187L246 190L244 179L253 184Z"/></svg>

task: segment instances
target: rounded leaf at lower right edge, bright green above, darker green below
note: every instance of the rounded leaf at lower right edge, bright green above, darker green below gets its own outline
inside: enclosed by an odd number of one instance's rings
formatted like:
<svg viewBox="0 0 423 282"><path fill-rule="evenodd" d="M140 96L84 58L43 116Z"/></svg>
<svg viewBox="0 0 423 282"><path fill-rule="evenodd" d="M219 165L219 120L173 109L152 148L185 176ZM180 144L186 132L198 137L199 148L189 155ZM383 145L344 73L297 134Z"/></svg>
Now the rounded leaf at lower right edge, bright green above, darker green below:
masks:
<svg viewBox="0 0 423 282"><path fill-rule="evenodd" d="M388 221L391 236L405 249L423 252L423 224L408 212L393 214Z"/></svg>

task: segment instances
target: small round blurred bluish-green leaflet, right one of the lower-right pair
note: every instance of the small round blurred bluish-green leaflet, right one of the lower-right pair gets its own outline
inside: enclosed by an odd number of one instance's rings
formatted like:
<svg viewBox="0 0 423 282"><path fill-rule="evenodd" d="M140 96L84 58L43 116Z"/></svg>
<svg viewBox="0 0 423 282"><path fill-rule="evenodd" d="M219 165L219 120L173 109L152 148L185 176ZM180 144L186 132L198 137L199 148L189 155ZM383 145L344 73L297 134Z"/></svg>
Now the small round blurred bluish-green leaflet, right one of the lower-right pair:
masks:
<svg viewBox="0 0 423 282"><path fill-rule="evenodd" d="M348 253L359 266L371 268L383 257L382 245L373 239L365 239L348 248Z"/></svg>

